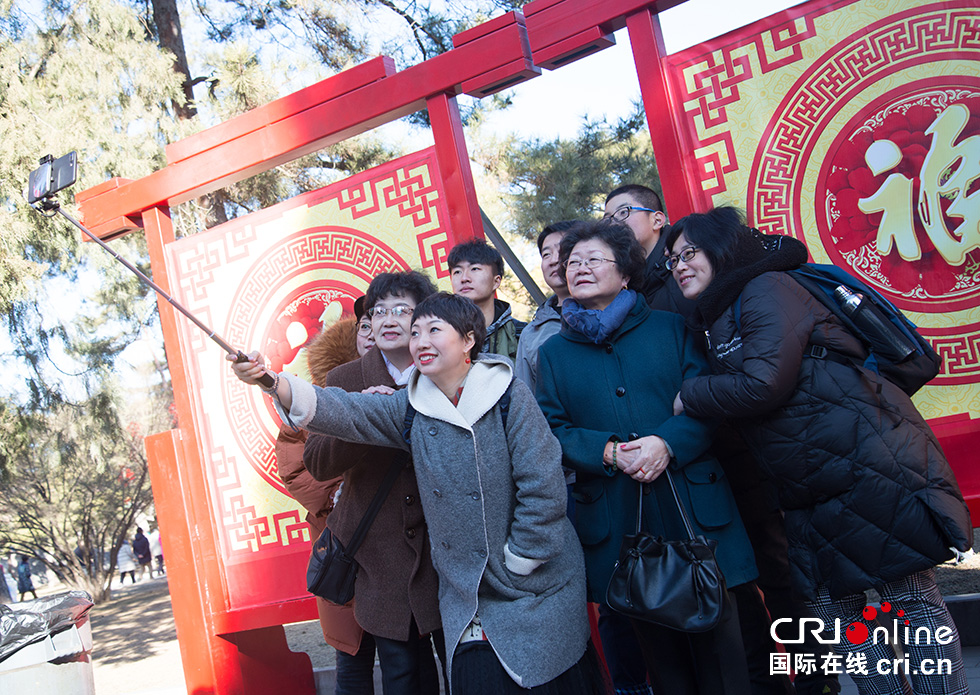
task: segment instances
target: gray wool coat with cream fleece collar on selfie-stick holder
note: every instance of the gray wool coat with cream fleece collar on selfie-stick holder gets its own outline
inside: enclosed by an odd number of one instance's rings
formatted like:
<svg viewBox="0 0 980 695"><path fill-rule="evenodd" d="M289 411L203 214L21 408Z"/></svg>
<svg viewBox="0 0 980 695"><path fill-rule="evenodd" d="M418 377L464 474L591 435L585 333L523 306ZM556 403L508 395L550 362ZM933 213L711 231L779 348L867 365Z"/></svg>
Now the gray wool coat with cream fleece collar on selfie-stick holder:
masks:
<svg viewBox="0 0 980 695"><path fill-rule="evenodd" d="M320 389L283 374L293 403L284 421L363 444L407 448L409 400L418 411L411 449L439 575L447 670L479 610L484 632L512 678L547 683L585 653L585 564L565 515L561 448L520 381L506 433L499 401L513 380L505 358L473 364L458 406L416 372L394 395ZM361 465L369 465L364 463Z"/></svg>

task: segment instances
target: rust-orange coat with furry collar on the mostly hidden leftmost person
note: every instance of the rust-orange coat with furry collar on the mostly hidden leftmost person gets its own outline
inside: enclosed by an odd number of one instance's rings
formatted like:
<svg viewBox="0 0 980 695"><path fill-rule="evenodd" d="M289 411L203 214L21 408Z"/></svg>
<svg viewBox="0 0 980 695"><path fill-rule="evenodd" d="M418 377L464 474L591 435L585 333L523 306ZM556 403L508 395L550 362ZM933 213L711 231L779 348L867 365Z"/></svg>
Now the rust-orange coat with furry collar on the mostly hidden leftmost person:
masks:
<svg viewBox="0 0 980 695"><path fill-rule="evenodd" d="M356 330L355 319L341 319L313 339L307 348L307 361L314 383L322 385L331 369L357 359ZM294 432L283 425L276 440L276 463L286 491L306 509L310 538L315 539L326 526L342 479L338 476L334 480L320 481L310 475L303 466L305 445L306 430ZM319 597L316 604L320 629L327 644L348 654L357 653L364 630L354 618L353 605L338 606Z"/></svg>

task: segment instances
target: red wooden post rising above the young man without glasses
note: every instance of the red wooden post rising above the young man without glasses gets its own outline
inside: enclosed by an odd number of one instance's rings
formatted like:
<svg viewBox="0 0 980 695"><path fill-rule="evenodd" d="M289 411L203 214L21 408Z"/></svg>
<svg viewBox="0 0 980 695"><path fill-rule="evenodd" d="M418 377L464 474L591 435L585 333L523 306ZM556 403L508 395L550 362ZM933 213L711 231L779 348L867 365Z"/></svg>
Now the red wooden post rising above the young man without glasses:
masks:
<svg viewBox="0 0 980 695"><path fill-rule="evenodd" d="M460 241L482 239L480 204L476 199L476 186L456 97L446 93L436 94L428 97L425 103L429 109L436 159L449 206L449 226Z"/></svg>

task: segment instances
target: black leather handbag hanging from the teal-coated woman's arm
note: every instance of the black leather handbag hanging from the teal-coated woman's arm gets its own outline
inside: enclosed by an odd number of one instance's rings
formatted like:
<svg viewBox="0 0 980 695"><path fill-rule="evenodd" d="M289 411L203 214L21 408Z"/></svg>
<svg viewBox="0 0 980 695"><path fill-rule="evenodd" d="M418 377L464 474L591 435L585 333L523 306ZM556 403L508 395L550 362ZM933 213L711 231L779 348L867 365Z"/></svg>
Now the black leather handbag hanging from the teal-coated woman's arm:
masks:
<svg viewBox="0 0 980 695"><path fill-rule="evenodd" d="M687 540L667 541L641 531L643 486L636 533L623 537L619 561L606 588L617 613L682 632L706 632L721 621L725 576L715 560L717 541L694 535L669 470L664 470L687 529Z"/></svg>

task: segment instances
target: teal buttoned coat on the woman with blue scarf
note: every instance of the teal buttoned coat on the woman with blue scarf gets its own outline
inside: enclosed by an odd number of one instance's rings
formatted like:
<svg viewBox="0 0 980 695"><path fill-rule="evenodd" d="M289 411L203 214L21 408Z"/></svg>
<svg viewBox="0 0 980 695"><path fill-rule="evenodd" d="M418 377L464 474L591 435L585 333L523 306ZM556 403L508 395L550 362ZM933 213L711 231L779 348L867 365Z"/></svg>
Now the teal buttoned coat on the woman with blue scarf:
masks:
<svg viewBox="0 0 980 695"><path fill-rule="evenodd" d="M537 398L576 471L575 529L585 551L589 600L605 602L606 586L625 534L636 528L639 483L602 463L606 443L657 435L674 454L671 472L695 526L718 541L716 556L729 586L757 576L752 546L725 473L705 452L717 425L673 414L685 379L710 374L682 319L651 311L642 297L609 340L596 345L562 325L538 355ZM685 537L665 476L643 502L643 529Z"/></svg>

